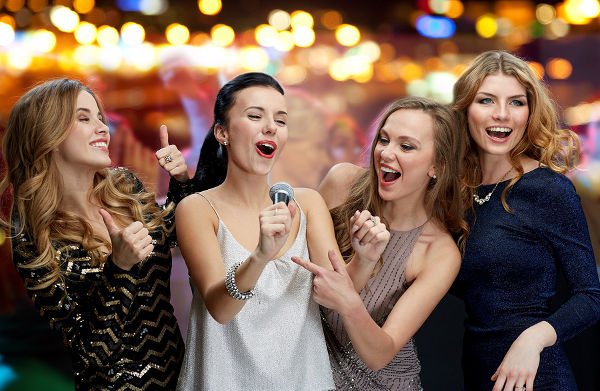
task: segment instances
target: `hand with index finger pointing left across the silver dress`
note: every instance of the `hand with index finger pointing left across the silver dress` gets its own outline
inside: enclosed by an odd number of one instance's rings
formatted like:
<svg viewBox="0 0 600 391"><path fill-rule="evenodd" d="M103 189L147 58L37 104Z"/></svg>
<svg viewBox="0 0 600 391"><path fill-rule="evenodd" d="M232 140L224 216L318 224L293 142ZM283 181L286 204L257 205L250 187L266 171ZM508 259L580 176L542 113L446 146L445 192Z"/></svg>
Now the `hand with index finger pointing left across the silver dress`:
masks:
<svg viewBox="0 0 600 391"><path fill-rule="evenodd" d="M327 255L333 270L325 269L299 257L292 257L292 261L315 275L313 299L318 304L339 314L349 313L356 308L356 305L362 305L362 300L354 289L344 261L333 250L329 250Z"/></svg>

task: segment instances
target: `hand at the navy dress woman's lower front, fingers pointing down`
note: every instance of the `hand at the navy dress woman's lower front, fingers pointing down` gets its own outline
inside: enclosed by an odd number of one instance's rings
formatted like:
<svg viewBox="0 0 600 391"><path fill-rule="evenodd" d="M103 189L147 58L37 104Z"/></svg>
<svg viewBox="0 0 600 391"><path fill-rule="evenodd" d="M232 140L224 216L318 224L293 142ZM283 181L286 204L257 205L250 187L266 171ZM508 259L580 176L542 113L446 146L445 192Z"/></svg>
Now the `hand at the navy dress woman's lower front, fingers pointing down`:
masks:
<svg viewBox="0 0 600 391"><path fill-rule="evenodd" d="M492 376L492 391L533 391L533 380L540 365L542 350L556 342L556 331L542 321L519 335L506 352L502 363Z"/></svg>

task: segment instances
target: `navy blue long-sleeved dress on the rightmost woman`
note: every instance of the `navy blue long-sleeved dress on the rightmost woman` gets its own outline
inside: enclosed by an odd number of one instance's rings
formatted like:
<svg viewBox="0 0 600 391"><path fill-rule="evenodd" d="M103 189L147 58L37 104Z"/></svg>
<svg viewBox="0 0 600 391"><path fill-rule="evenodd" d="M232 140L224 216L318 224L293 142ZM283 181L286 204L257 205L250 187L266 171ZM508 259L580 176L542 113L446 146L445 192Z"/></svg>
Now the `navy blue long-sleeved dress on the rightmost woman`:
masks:
<svg viewBox="0 0 600 391"><path fill-rule="evenodd" d="M491 390L490 377L514 340L545 320L558 340L542 351L534 390L577 390L561 342L600 319L600 283L579 196L567 177L537 168L507 192L511 214L500 198L507 184L467 216L471 234L453 287L467 311L465 389ZM478 195L493 187L480 186ZM571 296L551 313L558 269Z"/></svg>

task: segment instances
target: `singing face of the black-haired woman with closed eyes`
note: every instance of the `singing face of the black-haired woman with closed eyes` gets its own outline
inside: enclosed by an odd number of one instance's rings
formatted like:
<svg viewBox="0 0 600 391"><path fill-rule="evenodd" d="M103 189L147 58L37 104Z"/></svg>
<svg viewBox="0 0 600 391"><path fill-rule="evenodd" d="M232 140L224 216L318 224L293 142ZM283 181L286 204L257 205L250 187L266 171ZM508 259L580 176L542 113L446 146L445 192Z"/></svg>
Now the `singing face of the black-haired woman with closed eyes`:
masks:
<svg viewBox="0 0 600 391"><path fill-rule="evenodd" d="M268 174L287 141L285 99L271 87L240 90L227 113L227 124L215 128L220 143L227 142L229 164L259 175Z"/></svg>

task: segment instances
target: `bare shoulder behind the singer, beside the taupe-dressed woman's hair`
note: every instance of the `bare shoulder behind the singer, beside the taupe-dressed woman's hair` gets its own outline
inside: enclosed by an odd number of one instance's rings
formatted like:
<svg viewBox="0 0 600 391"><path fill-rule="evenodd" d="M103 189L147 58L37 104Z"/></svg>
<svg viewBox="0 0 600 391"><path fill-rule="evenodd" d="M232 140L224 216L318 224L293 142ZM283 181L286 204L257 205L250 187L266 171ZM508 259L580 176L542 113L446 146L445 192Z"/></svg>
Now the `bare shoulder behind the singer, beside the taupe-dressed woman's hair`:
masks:
<svg viewBox="0 0 600 391"><path fill-rule="evenodd" d="M338 163L331 167L317 189L330 209L346 200L350 187L365 170L365 167L352 163Z"/></svg>

